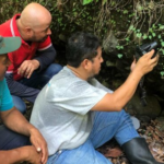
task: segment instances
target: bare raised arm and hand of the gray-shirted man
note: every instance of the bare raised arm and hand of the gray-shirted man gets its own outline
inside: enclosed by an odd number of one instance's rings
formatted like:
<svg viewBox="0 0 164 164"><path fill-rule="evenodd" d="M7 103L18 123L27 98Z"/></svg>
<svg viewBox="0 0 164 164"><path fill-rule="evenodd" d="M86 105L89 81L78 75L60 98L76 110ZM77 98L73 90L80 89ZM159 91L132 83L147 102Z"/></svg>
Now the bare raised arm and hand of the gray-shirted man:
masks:
<svg viewBox="0 0 164 164"><path fill-rule="evenodd" d="M140 79L148 72L150 72L156 65L159 56L151 59L154 50L145 54L137 62L136 68L130 73L126 82L118 87L114 93L107 93L93 108L92 110L121 110L122 107L132 97L138 86Z"/></svg>

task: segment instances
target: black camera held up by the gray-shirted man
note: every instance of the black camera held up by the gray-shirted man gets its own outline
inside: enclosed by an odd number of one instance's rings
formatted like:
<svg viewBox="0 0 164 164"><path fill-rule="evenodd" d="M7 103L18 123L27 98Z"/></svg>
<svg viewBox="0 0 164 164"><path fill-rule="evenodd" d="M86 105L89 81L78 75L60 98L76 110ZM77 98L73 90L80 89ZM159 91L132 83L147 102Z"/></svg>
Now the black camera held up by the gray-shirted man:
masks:
<svg viewBox="0 0 164 164"><path fill-rule="evenodd" d="M136 59L138 60L141 56L143 56L144 54L151 51L152 49L155 50L154 55L152 56L152 58L154 58L156 56L157 52L157 43L153 42L150 44L144 44L142 46L137 46L136 48Z"/></svg>

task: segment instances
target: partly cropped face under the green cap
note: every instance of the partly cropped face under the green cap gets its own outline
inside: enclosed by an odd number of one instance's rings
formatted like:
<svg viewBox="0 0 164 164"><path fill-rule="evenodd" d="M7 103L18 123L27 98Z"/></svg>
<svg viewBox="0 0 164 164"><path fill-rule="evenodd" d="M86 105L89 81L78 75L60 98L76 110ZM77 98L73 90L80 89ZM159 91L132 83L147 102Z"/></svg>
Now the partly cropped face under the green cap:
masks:
<svg viewBox="0 0 164 164"><path fill-rule="evenodd" d="M5 71L10 63L8 55L0 55L0 81L4 79Z"/></svg>

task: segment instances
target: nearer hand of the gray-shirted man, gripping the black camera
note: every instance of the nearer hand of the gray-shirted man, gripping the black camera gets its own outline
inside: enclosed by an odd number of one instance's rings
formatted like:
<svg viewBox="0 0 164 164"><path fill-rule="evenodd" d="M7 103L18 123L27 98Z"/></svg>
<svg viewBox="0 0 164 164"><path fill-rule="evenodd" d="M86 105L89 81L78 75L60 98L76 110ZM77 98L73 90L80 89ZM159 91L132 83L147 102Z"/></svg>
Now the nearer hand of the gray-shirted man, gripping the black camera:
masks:
<svg viewBox="0 0 164 164"><path fill-rule="evenodd" d="M138 70L138 72L141 73L141 75L147 74L148 72L152 71L153 68L157 65L159 61L159 55L156 55L153 59L152 56L154 54L154 50L152 49L148 54L143 55L137 62L133 70Z"/></svg>

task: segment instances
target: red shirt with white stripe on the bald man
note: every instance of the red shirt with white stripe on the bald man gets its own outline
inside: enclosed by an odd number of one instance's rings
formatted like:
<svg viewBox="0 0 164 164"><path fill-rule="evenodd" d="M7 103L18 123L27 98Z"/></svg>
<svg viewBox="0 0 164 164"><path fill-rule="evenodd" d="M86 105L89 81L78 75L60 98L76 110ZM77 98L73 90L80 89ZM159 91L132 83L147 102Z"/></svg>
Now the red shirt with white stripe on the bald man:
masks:
<svg viewBox="0 0 164 164"><path fill-rule="evenodd" d="M20 17L21 14L15 14L11 20L0 25L0 35L2 36L20 36L20 32L16 26L16 19ZM50 37L43 43L32 43L28 45L26 42L22 39L21 47L13 51L9 52L9 59L11 60L11 66L8 68L7 73L13 73L14 80L22 79L21 75L17 74L17 69L24 60L31 60L35 57L36 50L45 50L51 46Z"/></svg>

